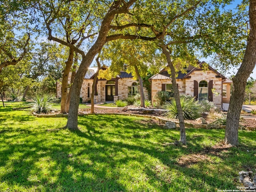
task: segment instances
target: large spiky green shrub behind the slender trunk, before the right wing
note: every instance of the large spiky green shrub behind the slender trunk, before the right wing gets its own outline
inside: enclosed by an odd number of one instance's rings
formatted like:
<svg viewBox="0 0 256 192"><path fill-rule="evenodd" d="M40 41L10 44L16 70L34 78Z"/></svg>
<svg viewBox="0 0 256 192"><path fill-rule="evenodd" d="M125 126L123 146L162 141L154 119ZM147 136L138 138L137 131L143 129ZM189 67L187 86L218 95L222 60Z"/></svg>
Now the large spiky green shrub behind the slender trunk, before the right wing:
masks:
<svg viewBox="0 0 256 192"><path fill-rule="evenodd" d="M180 104L182 107L184 119L196 119L201 116L201 105L194 97L180 96ZM165 116L168 118L178 118L178 110L174 98L171 102L166 104L165 108L168 110Z"/></svg>

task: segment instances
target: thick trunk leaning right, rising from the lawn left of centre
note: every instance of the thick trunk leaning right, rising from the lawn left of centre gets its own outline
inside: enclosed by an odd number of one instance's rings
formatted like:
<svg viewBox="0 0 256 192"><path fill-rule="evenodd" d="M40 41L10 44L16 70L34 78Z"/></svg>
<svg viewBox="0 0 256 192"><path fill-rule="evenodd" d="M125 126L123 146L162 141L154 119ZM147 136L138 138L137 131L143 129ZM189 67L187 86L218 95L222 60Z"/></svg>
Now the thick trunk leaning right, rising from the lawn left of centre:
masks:
<svg viewBox="0 0 256 192"><path fill-rule="evenodd" d="M130 0L129 6L132 5L132 3L135 2L135 0ZM110 30L110 24L114 18L114 16L118 13L124 12L124 10L121 10L123 7L120 6L121 1L114 1L110 9L108 10L106 16L102 20L100 31L98 33L98 38L96 42L93 44L93 46L88 50L87 54L82 57L82 62L78 68L74 84L72 86L71 90L71 98L70 100L70 108L69 108L69 115L68 115L68 122L66 127L74 130L78 129L78 107L79 107L79 96L80 96L80 90L82 88L82 83L84 80L84 76L87 72L88 67L92 63L94 56L100 52L104 44L106 43L106 37L108 35L108 31ZM127 4L124 7L127 10ZM118 10L120 9L120 12Z"/></svg>

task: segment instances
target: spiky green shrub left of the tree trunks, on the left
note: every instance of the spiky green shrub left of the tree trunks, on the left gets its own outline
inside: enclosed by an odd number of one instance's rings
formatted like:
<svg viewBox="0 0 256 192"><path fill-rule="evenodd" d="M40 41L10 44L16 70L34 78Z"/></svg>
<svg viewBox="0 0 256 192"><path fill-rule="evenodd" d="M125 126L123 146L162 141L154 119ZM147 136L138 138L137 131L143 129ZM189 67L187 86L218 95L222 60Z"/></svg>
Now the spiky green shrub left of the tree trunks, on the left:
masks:
<svg viewBox="0 0 256 192"><path fill-rule="evenodd" d="M29 104L32 106L32 110L38 114L48 113L53 110L51 103L56 100L55 96L50 94L37 93L31 98L32 102Z"/></svg>

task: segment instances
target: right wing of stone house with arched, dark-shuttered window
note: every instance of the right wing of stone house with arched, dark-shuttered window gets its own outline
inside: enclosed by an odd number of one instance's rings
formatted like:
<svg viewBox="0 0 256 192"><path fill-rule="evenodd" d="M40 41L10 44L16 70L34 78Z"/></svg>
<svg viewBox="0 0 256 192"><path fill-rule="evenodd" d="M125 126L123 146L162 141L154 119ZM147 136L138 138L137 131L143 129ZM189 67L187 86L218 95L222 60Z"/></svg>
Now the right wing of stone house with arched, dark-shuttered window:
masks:
<svg viewBox="0 0 256 192"><path fill-rule="evenodd" d="M194 96L197 100L207 99L214 102L218 108L222 108L222 103L230 101L231 80L224 77L211 66L208 70L202 69L204 62L199 62L198 67L188 66L185 73L178 72L176 82L180 94ZM167 69L161 70L158 74L150 78L152 104L158 91L171 91L172 82Z"/></svg>

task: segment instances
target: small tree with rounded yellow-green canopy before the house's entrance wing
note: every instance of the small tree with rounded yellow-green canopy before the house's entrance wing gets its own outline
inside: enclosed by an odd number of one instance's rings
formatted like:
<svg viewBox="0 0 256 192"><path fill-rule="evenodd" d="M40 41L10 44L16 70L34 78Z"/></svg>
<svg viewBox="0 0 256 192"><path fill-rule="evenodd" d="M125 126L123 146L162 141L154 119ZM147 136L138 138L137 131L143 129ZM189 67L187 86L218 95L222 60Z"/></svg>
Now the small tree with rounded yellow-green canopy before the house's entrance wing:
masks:
<svg viewBox="0 0 256 192"><path fill-rule="evenodd" d="M150 41L116 40L108 42L104 48L104 58L111 60L110 68L113 71L120 73L121 70L126 70L127 73L132 73L132 76L138 79L141 107L145 107L142 78L147 76L148 69L153 63L156 65L156 60L154 60L156 52L152 46L154 44Z"/></svg>

